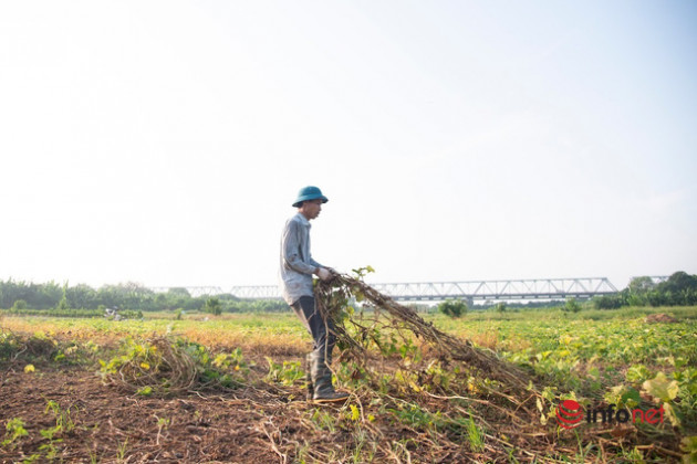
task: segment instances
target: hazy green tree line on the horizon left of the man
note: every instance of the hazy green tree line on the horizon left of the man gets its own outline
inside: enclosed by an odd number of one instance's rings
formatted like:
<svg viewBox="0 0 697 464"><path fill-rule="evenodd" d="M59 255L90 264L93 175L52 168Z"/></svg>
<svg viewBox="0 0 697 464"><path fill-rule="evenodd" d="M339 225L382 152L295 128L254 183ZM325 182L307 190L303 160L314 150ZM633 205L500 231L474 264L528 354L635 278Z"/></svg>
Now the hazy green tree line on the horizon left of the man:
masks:
<svg viewBox="0 0 697 464"><path fill-rule="evenodd" d="M75 286L55 282L43 284L0 281L0 308L14 313L37 314L39 310L210 310L228 313L281 312L288 305L278 299L242 299L231 294L191 296L184 287L173 287L164 293L133 282L92 288L85 284ZM86 313L89 314L89 313ZM48 314L46 314L48 315Z"/></svg>

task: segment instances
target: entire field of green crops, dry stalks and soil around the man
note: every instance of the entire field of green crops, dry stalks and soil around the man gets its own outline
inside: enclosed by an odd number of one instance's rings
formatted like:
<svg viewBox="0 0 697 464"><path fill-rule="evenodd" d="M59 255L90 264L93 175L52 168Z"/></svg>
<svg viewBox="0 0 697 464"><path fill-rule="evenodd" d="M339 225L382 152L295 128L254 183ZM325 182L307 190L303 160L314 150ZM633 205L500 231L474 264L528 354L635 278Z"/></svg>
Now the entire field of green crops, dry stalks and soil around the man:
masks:
<svg viewBox="0 0 697 464"><path fill-rule="evenodd" d="M676 320L647 321L662 313ZM302 358L311 339L292 313L145 316L121 321L0 316L2 462L697 458L697 307L424 316L529 375L539 396L520 402L524 414L507 404L504 386L430 359L417 339L385 351L395 362L381 361L383 370L370 379L351 360L337 361L340 387L355 394L327 408L304 402ZM150 376L170 346L193 366L186 388L158 384ZM131 373L136 369L132 381L123 379L127 366ZM181 366L169 369L186 373ZM70 378L79 379L73 390L50 387L71 384ZM92 396L112 412L90 402ZM568 399L601 414L566 430L556 412ZM602 423L610 404L626 414L659 411L659 420L622 422L621 414ZM139 428L128 425L133 414ZM199 454L185 446L209 441Z"/></svg>

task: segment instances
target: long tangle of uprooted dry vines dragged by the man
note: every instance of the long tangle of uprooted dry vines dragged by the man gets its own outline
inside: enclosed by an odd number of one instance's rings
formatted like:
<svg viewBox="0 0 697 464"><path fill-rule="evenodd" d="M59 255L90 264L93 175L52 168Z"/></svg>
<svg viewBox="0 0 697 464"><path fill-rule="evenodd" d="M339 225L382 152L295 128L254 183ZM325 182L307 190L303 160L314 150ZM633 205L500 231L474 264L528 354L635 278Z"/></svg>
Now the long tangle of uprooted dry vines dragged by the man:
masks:
<svg viewBox="0 0 697 464"><path fill-rule="evenodd" d="M370 271L354 271L357 278L335 274L315 287L318 308L341 351L335 373L344 383L403 399L490 407L517 426L540 414L535 400L543 399L528 372L375 291L362 281Z"/></svg>

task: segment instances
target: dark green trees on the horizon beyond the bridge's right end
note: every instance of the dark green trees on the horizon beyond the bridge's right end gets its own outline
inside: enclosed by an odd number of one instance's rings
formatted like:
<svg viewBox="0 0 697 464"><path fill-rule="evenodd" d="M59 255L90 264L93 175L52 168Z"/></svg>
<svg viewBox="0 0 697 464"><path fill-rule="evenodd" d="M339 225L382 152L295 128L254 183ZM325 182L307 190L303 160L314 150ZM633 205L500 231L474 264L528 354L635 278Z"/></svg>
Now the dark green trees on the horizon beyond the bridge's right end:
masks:
<svg viewBox="0 0 697 464"><path fill-rule="evenodd" d="M616 309L623 306L696 306L697 275L678 271L660 283L647 276L634 277L621 292L593 298L593 305L599 309Z"/></svg>

